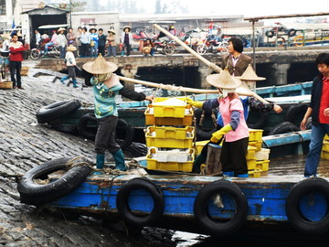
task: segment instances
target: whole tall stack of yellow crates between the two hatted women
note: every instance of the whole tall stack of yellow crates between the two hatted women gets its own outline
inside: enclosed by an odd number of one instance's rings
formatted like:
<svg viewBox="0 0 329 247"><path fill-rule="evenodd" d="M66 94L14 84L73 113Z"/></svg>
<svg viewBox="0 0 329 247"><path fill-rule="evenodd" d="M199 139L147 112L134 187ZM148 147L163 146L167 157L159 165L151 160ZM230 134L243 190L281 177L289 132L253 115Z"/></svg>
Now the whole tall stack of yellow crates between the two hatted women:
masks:
<svg viewBox="0 0 329 247"><path fill-rule="evenodd" d="M195 159L193 108L186 98L155 98L145 111L145 132L151 170L191 172Z"/></svg>

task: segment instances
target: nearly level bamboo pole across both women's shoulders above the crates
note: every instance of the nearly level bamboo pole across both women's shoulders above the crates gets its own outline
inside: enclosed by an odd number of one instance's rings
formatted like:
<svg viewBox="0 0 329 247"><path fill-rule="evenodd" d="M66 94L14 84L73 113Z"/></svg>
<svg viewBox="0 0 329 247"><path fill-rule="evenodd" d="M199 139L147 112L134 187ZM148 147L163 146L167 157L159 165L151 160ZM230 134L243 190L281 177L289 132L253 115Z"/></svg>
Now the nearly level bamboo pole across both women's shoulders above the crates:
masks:
<svg viewBox="0 0 329 247"><path fill-rule="evenodd" d="M128 77L118 76L118 78L121 81L129 81L136 84L141 84L148 87L154 87L154 88L160 88L164 90L170 90L170 91L188 91L188 92L194 92L194 93L218 93L218 90L199 90L199 89L193 89L193 88L186 88L186 87L176 87L173 85L164 85L159 84L156 82L150 82L150 81L142 81L142 80L136 80ZM239 91L237 92L239 95L243 96L254 96L253 92L251 91Z"/></svg>

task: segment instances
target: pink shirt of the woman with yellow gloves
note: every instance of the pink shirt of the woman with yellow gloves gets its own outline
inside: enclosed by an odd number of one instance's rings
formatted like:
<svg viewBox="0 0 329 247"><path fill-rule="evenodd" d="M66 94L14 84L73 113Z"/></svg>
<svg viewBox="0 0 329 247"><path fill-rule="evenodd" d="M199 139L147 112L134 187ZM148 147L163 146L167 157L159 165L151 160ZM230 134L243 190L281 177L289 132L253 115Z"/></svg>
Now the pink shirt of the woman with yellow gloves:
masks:
<svg viewBox="0 0 329 247"><path fill-rule="evenodd" d="M235 142L239 139L249 137L249 130L244 119L243 105L239 99L229 100L229 97L219 100L219 112L222 115L224 125L229 124L232 111L240 113L239 125L235 131L230 131L225 134L227 142Z"/></svg>

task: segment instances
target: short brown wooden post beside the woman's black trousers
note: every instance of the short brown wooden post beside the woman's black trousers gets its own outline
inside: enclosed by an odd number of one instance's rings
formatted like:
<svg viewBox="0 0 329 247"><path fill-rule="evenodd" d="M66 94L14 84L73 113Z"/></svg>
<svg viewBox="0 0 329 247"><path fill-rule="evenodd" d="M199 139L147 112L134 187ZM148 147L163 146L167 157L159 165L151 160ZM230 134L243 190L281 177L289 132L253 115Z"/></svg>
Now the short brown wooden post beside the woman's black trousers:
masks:
<svg viewBox="0 0 329 247"><path fill-rule="evenodd" d="M220 163L221 145L209 144L207 149L206 175L212 175L221 172Z"/></svg>

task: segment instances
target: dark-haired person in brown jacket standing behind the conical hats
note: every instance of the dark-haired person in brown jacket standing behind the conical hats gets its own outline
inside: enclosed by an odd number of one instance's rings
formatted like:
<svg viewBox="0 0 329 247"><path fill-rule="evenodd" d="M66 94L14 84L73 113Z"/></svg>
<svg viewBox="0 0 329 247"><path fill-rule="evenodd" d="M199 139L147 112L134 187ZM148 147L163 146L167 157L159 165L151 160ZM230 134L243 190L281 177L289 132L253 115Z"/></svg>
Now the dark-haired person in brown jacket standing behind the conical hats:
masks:
<svg viewBox="0 0 329 247"><path fill-rule="evenodd" d="M232 37L228 39L228 55L225 56L221 63L224 70L228 67L229 74L232 76L241 76L251 64L251 58L242 54L243 41L241 38Z"/></svg>

